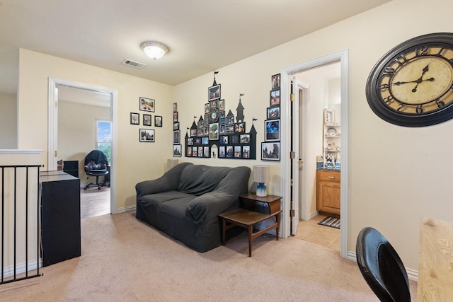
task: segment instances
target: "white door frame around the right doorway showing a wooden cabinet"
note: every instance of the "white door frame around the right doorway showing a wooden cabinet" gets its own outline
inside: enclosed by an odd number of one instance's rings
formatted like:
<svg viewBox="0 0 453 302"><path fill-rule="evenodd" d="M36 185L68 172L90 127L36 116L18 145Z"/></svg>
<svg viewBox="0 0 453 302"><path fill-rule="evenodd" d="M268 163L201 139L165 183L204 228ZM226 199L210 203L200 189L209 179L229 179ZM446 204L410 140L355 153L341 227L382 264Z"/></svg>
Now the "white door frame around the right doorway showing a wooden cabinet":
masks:
<svg viewBox="0 0 453 302"><path fill-rule="evenodd" d="M334 52L333 54L327 54L326 56L312 59L310 61L294 64L292 66L285 67L280 72L281 79L281 131L282 131L282 145L280 146L281 151L281 163L280 173L281 187L282 187L282 238L289 237L291 217L291 165L289 163L291 151L291 131L290 131L290 117L291 117L291 104L289 95L291 93L291 76L300 74L309 69L314 69L327 64L340 62L340 75L341 75L341 185L340 185L340 216L341 216L341 229L340 229L340 256L343 258L348 257L348 50L341 50Z"/></svg>

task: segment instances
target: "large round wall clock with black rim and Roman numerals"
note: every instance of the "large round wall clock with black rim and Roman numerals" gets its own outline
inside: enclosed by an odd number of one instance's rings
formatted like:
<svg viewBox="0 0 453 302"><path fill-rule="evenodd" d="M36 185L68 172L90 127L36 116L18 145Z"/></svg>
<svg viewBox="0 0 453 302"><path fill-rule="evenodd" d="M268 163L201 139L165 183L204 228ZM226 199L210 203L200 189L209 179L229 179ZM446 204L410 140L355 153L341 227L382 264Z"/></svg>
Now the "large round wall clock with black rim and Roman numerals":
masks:
<svg viewBox="0 0 453 302"><path fill-rule="evenodd" d="M369 107L387 122L406 127L453 118L453 33L432 33L397 45L367 80Z"/></svg>

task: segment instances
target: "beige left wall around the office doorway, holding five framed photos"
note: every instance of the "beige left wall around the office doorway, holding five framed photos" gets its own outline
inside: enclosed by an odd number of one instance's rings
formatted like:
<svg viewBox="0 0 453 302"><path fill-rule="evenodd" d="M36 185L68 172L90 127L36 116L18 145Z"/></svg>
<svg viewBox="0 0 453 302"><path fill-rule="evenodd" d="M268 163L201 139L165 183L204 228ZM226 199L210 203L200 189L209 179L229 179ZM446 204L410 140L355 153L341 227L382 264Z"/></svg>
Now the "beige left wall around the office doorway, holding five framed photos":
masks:
<svg viewBox="0 0 453 302"><path fill-rule="evenodd" d="M52 77L117 90L117 107L112 108L118 119L113 121L117 122L118 133L113 142L117 145L117 154L113 154L117 182L112 184L117 189L117 209L134 206L137 182L164 173L166 158L172 155L172 86L23 49L19 75L18 148L44 150L40 156L44 170L48 156L47 87L48 77ZM151 127L156 129L155 143L140 143L139 126L130 124L130 112L140 112L139 97L154 98L156 112L151 114L164 116L164 127Z"/></svg>

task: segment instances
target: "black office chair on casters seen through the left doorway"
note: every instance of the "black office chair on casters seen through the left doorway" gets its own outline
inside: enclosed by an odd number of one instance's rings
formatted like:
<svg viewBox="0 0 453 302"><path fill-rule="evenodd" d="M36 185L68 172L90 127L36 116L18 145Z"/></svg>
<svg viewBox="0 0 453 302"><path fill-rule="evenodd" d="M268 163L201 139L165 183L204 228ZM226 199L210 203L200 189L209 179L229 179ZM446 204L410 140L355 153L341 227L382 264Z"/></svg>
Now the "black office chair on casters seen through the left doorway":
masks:
<svg viewBox="0 0 453 302"><path fill-rule="evenodd" d="M110 187L110 182L105 181L109 172L108 172L108 160L107 156L103 151L93 150L85 156L85 173L88 175L86 179L90 176L96 176L96 182L88 183L84 187L84 190L88 189L91 186L98 187L98 190L101 190L101 187L108 185ZM99 178L103 176L104 181L99 182Z"/></svg>

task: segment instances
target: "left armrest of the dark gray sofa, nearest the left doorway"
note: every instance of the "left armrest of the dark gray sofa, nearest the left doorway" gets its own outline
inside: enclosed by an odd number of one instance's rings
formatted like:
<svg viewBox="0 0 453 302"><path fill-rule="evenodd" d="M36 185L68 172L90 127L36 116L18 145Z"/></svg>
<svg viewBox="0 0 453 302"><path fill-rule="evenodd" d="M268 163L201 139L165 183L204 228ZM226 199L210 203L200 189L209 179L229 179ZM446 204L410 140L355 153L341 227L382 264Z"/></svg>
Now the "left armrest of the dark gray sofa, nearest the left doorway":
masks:
<svg viewBox="0 0 453 302"><path fill-rule="evenodd" d="M147 194L156 194L171 190L177 190L181 171L184 170L184 168L188 165L192 165L192 163L180 163L179 165L176 165L175 167L168 170L160 178L138 182L137 185L135 185L137 200Z"/></svg>

